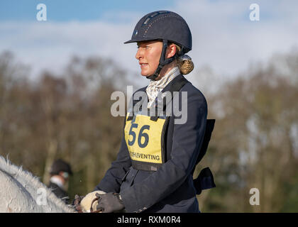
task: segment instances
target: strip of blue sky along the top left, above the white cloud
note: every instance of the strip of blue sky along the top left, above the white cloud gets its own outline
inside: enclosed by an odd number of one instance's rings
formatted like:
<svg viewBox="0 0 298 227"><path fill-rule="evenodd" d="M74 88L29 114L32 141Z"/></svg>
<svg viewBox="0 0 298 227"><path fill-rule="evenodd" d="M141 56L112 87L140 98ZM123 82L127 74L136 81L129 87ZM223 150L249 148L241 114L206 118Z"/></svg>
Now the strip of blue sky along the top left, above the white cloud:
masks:
<svg viewBox="0 0 298 227"><path fill-rule="evenodd" d="M1 0L0 20L35 21L38 11L36 6L43 3L47 6L48 21L93 21L104 19L107 11L117 13L119 11L138 11L146 13L150 11L167 9L174 1L170 0ZM121 21L117 21L121 22Z"/></svg>

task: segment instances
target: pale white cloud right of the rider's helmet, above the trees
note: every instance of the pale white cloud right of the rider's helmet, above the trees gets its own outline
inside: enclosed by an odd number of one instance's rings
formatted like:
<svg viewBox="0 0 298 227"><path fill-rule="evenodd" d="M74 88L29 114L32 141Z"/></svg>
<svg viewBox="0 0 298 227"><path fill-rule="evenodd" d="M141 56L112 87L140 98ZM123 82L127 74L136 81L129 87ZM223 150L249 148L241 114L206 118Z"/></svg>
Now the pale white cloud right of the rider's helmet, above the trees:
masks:
<svg viewBox="0 0 298 227"><path fill-rule="evenodd" d="M298 45L298 15L291 11L298 4L256 2L260 21L249 20L251 1L180 1L176 7L192 28L194 60L216 73L236 74L250 61L267 60Z"/></svg>

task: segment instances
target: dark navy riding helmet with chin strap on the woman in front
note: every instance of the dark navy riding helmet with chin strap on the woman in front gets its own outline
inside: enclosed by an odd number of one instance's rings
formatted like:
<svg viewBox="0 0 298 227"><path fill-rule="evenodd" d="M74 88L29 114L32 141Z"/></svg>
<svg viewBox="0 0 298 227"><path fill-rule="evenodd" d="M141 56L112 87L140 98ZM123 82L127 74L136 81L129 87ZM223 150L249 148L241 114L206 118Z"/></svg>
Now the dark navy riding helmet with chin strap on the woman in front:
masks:
<svg viewBox="0 0 298 227"><path fill-rule="evenodd" d="M143 16L136 24L131 40L125 43L149 40L162 40L163 45L158 68L154 74L147 77L148 79L155 79L162 67L175 60L176 57L192 50L192 33L186 21L177 13L171 11L155 11ZM179 45L181 50L173 57L165 59L168 43Z"/></svg>

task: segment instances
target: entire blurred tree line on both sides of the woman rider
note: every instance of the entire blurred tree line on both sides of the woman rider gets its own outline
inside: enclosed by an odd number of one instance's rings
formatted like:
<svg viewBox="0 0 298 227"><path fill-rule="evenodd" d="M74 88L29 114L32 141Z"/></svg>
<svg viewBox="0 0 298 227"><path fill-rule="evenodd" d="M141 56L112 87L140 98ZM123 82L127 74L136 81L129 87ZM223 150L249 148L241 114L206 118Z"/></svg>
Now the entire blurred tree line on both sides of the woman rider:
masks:
<svg viewBox="0 0 298 227"><path fill-rule="evenodd" d="M74 172L70 199L91 192L123 135L123 117L111 115L111 93L126 93L126 85L136 85L133 77L101 57L73 57L63 76L43 72L33 82L29 74L11 52L1 53L0 155L46 184L53 160L62 158ZM202 92L216 125L194 177L209 166L216 188L198 196L200 209L297 212L298 51ZM251 188L259 189L259 206L250 205Z"/></svg>

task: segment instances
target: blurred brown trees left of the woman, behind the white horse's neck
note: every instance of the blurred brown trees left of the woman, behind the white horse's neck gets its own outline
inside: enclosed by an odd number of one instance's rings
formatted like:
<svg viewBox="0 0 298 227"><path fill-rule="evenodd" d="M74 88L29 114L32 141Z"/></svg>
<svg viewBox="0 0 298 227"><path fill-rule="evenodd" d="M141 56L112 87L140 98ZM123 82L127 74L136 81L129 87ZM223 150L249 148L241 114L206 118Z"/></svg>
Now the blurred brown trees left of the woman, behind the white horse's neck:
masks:
<svg viewBox="0 0 298 227"><path fill-rule="evenodd" d="M63 77L43 72L29 82L26 72L10 52L0 56L0 154L45 184L62 158L75 172L71 199L91 192L120 146L123 117L111 116L110 97L125 72L100 57L73 57Z"/></svg>

